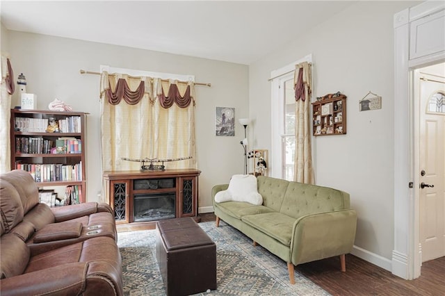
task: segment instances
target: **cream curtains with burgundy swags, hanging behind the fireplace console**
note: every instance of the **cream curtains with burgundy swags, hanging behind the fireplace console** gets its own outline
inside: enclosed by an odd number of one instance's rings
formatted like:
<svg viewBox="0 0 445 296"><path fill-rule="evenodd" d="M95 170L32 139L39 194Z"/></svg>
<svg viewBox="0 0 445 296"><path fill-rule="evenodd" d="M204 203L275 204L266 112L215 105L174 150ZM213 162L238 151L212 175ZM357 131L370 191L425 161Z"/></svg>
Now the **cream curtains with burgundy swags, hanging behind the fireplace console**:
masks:
<svg viewBox="0 0 445 296"><path fill-rule="evenodd" d="M106 93L118 92L116 85L119 79L128 85L129 90L122 91L128 94L128 99L111 104ZM140 92L143 97L138 100L136 92L141 88L141 81L144 84L143 92ZM140 163L124 161L122 157L172 159L192 156L189 160L166 162L164 165L167 169L196 166L195 106L188 104L180 108L174 103L170 108L163 108L162 94L170 94L171 85L177 86L178 97L185 97L188 86L191 97L194 95L193 83L102 73L102 170L140 170Z"/></svg>

